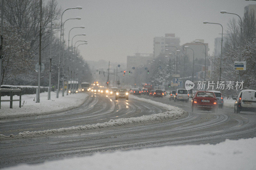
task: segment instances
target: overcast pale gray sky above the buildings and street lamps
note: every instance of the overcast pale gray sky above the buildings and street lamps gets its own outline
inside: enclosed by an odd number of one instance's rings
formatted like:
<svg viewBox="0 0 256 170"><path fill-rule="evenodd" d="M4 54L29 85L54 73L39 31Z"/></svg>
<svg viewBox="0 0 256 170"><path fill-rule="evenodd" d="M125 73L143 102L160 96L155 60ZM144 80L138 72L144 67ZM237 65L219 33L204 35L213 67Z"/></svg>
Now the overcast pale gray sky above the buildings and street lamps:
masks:
<svg viewBox="0 0 256 170"><path fill-rule="evenodd" d="M228 20L238 17L221 14L221 10L236 13L243 18L244 6L256 4L245 0L57 0L63 9L82 6L82 10L68 10L63 22L76 16L81 20L68 20L65 23L65 37L75 26L84 25L85 29L73 29L70 37L87 40L88 45L79 46L86 60L100 59L111 62L126 62L127 55L153 53L153 38L175 33L180 37L180 45L195 39L209 43L209 54L214 50L214 39L220 37L220 25L203 24L204 20L220 23L224 33ZM71 38L70 38L71 39ZM77 43L78 44L78 43Z"/></svg>

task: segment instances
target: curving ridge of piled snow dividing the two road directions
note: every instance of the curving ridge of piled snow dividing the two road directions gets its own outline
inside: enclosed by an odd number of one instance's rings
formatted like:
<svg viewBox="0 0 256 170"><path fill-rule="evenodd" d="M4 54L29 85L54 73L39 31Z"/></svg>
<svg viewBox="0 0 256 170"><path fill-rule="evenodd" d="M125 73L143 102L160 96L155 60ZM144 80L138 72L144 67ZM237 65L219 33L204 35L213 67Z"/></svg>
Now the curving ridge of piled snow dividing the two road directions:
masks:
<svg viewBox="0 0 256 170"><path fill-rule="evenodd" d="M135 97L134 98L138 98ZM84 125L84 126L76 126L76 127L69 127L69 128L60 128L60 129L52 129L52 130L45 130L45 131L24 131L20 132L18 135L1 135L0 134L0 140L9 140L9 139L19 139L19 138L34 138L34 137L39 137L42 135L52 135L52 134L61 134L61 133L70 133L70 132L80 132L80 131L87 131L87 130L92 130L92 129L101 129L101 128L108 128L108 127L114 127L114 126L122 126L122 125L127 125L127 124L139 124L139 123L147 123L147 122L155 122L155 121L164 121L168 119L176 119L180 117L182 114L184 114L186 111L170 106L164 103L160 102L155 102L149 99L143 99L143 98L138 98L140 101L145 101L148 103L152 103L158 106L162 106L165 108L166 112L163 113L157 113L153 115L148 115L148 116L141 116L141 117L130 117L130 118L119 118L119 119L111 119L108 122L105 123L97 123L97 124L92 124L92 125Z"/></svg>

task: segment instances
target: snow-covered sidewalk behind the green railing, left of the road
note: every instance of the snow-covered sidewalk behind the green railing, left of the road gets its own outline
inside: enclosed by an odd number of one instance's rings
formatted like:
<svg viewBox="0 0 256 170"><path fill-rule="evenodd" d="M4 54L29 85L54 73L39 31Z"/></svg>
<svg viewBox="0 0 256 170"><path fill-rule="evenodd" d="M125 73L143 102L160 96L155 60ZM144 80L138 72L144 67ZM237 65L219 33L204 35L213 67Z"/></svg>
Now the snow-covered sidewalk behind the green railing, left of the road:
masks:
<svg viewBox="0 0 256 170"><path fill-rule="evenodd" d="M11 117L26 117L34 115L49 114L54 112L60 112L65 110L74 109L81 106L86 97L85 93L71 94L66 96L59 95L56 98L56 93L51 92L51 100L47 99L48 93L40 93L40 103L36 103L36 94L22 95L21 105L19 108L19 102L13 102L12 108L10 109L10 102L1 102L0 119L11 118ZM2 96L2 100L10 100L10 96ZM19 99L19 96L13 96L13 99Z"/></svg>

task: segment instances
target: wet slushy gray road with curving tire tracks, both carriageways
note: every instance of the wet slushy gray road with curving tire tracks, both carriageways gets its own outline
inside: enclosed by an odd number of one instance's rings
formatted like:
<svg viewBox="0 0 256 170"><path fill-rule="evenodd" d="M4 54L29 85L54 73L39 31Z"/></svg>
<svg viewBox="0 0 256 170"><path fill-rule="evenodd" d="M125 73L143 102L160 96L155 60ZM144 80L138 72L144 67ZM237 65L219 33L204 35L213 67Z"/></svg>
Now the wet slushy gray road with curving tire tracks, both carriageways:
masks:
<svg viewBox="0 0 256 170"><path fill-rule="evenodd" d="M148 96L143 96L149 98ZM0 165L13 166L21 162L38 163L64 157L82 156L94 152L130 150L144 147L178 144L216 144L225 139L256 136L256 115L234 114L232 109L218 113L190 112L189 103L150 99L171 104L188 111L179 119L130 124L77 133L38 136L36 138L0 141ZM87 97L84 105L66 112L0 120L1 134L42 131L85 124L104 123L110 119L140 117L166 111L161 106L139 100L114 100L105 96Z"/></svg>

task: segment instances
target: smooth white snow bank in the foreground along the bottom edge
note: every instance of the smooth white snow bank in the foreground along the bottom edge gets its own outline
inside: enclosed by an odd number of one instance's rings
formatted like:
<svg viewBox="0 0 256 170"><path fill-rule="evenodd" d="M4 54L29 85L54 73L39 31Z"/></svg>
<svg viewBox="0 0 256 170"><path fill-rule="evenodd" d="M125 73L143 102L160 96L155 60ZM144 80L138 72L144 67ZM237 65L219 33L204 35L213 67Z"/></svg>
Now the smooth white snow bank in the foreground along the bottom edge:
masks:
<svg viewBox="0 0 256 170"><path fill-rule="evenodd" d="M226 140L217 145L179 145L96 153L5 170L84 169L256 169L256 138Z"/></svg>

